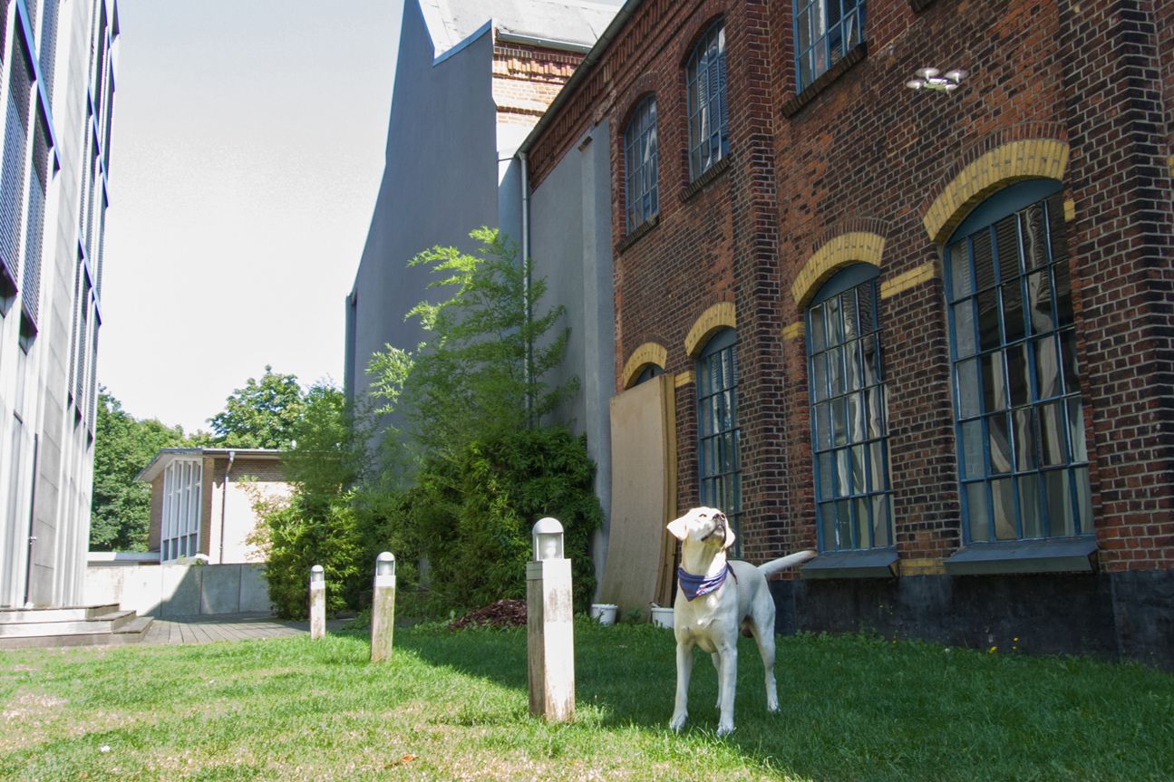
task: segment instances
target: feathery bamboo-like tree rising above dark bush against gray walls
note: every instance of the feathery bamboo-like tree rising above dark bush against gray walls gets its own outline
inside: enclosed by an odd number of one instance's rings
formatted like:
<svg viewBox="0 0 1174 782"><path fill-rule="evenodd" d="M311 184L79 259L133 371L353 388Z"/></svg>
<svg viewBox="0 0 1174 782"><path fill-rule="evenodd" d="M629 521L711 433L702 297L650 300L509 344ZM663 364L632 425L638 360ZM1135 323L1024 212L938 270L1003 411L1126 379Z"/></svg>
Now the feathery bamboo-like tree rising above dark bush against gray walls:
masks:
<svg viewBox="0 0 1174 782"><path fill-rule="evenodd" d="M558 328L565 308L535 315L546 281L528 282L532 262L498 230L470 236L481 243L475 255L434 247L409 262L430 268L429 288L451 297L407 312L426 332L414 351L387 345L367 368L383 402L377 412L398 414L425 454L454 454L474 437L529 427L578 386L544 379L561 364L569 336Z"/></svg>

